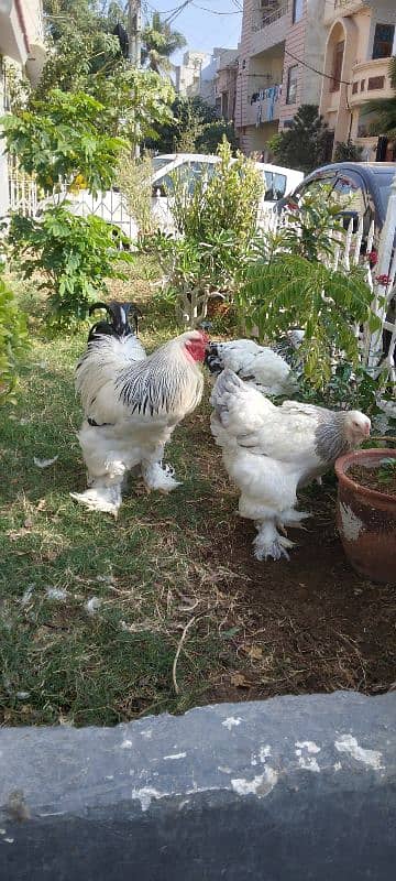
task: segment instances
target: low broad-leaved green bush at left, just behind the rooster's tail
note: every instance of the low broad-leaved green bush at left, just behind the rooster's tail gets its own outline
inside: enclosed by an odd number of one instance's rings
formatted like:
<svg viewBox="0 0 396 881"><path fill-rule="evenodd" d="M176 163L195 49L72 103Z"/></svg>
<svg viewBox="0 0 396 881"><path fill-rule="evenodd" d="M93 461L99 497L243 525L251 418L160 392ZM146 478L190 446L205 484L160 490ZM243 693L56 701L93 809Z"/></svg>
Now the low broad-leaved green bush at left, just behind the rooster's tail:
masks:
<svg viewBox="0 0 396 881"><path fill-rule="evenodd" d="M118 227L94 215L76 217L67 203L46 208L40 221L14 216L10 241L25 279L44 274L40 286L50 293L47 320L54 330L87 318L90 304L108 293L106 279L124 278L119 261L133 259L118 250L129 243Z"/></svg>

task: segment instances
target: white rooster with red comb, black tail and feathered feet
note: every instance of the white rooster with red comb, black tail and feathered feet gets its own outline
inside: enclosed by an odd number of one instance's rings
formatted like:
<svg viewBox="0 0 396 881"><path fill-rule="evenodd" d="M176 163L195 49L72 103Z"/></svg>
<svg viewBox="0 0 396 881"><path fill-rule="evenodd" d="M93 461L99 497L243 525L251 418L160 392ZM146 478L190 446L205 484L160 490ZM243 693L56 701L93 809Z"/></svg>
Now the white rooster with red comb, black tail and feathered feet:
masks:
<svg viewBox="0 0 396 881"><path fill-rule="evenodd" d="M117 516L128 471L140 466L147 489L179 486L162 465L176 425L199 404L207 336L190 330L148 357L128 323L132 304L96 304L111 322L92 327L76 370L85 420L78 434L88 470L85 492L70 493L92 511Z"/></svg>

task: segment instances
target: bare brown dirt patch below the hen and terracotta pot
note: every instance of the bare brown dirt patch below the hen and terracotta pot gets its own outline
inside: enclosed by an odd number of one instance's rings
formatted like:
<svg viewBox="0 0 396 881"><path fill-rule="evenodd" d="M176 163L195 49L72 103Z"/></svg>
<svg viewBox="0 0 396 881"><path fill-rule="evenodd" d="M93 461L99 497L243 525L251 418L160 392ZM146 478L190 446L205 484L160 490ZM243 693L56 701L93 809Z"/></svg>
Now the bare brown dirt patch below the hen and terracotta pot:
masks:
<svg viewBox="0 0 396 881"><path fill-rule="evenodd" d="M213 683L210 700L339 688L377 694L396 686L396 588L364 581L350 568L334 524L333 487L301 502L312 518L305 530L288 531L297 542L289 562L256 561L246 520L222 519L221 533L208 524L206 562L233 572L220 589L235 609L227 627L238 628L232 644L240 662Z"/></svg>

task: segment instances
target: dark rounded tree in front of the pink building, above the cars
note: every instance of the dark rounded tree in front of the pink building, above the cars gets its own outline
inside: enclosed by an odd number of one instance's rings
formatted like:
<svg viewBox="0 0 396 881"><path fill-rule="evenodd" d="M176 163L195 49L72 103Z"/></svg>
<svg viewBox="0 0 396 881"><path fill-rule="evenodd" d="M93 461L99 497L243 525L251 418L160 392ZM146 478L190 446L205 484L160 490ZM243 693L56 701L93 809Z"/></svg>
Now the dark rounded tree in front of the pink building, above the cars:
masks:
<svg viewBox="0 0 396 881"><path fill-rule="evenodd" d="M278 165L308 174L331 157L332 135L311 104L301 105L289 129L268 142Z"/></svg>

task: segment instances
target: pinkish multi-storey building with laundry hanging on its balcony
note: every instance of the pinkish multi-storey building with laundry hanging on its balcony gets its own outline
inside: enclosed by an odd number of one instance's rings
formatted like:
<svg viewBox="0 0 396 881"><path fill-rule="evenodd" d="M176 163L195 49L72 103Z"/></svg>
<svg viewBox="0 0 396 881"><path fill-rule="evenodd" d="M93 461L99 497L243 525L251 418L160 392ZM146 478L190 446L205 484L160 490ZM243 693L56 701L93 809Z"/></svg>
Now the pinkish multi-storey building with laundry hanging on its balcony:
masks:
<svg viewBox="0 0 396 881"><path fill-rule="evenodd" d="M326 0L244 0L235 128L245 152L264 151L301 104L319 105Z"/></svg>

